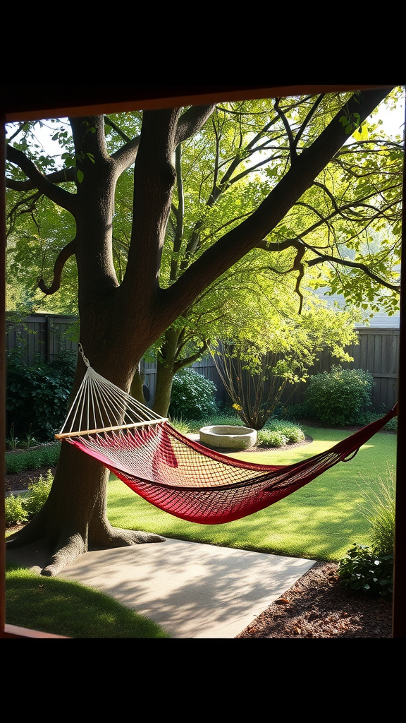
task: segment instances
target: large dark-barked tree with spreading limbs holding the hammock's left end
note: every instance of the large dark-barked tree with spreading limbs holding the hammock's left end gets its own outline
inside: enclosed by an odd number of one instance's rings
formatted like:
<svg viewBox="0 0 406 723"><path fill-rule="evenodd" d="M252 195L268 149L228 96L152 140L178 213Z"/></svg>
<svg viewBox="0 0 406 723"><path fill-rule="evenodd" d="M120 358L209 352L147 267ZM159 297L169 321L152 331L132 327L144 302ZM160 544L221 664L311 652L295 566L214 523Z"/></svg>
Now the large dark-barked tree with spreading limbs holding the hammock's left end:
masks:
<svg viewBox="0 0 406 723"><path fill-rule="evenodd" d="M160 285L160 265L176 184L176 147L201 131L214 112L213 106L146 111L139 135L111 154L103 117L72 118L75 165L51 174L43 173L25 149L10 143L7 158L27 180L10 178L8 186L16 191L38 189L74 218L76 233L59 254L56 275L65 257L73 252L78 272L80 338L92 366L128 389L147 348L207 286L255 247L264 245L267 251L275 252L292 247L300 273L303 248L298 247L297 239L275 242L272 248L268 236L344 145L348 133L340 121L343 114L355 127L371 114L386 92L308 98L306 119L299 126L293 122L290 164L285 174L247 218L225 229L165 288ZM278 115L282 119L279 111ZM312 124L314 134L305 134ZM132 163L133 222L128 262L119 283L113 262L114 197L119 176ZM70 168L74 168L72 189L66 187L66 182L71 182ZM84 372L79 359L75 386ZM51 560L43 573L52 575L89 544L118 547L159 540L111 527L105 515L107 479L99 463L63 444L46 505L9 544L46 538Z"/></svg>

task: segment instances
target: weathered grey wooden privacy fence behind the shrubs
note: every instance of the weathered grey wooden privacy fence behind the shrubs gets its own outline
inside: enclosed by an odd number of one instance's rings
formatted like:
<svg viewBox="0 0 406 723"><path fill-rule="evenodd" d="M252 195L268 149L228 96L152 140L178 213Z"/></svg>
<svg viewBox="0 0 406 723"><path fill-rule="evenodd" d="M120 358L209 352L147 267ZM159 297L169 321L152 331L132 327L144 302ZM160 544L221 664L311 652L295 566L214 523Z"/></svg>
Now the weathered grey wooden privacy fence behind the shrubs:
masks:
<svg viewBox="0 0 406 723"><path fill-rule="evenodd" d="M76 317L61 315L31 315L25 320L6 320L6 348L16 348L25 364L33 364L35 355L41 359L53 361L63 351L77 351L77 342L70 338L72 325ZM354 361L338 362L328 351L322 351L309 375L328 372L332 365L340 364L347 369L363 369L373 376L373 408L380 412L382 408L392 408L397 402L399 385L399 329L362 328L358 329L359 344L348 346L346 351ZM143 362L145 384L150 389L151 405L155 396L156 364ZM197 361L193 365L196 372L215 382L217 400L227 401L228 395L218 375L211 357ZM293 388L288 385L282 395L282 403L298 404L304 399L306 383L301 382Z"/></svg>

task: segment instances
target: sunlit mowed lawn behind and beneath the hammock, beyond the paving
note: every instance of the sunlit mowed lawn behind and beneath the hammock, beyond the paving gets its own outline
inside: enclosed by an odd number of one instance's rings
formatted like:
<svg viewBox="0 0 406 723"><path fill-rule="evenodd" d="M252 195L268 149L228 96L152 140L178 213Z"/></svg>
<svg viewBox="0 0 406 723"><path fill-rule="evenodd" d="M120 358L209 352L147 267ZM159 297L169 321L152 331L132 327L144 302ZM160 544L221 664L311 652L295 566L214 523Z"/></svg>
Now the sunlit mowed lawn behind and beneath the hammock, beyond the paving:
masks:
<svg viewBox="0 0 406 723"><path fill-rule="evenodd" d="M290 464L316 455L347 437L338 429L303 427L313 438L292 450L235 453L261 464ZM368 544L368 521L361 508L365 484L378 490L379 476L396 463L397 435L379 432L352 461L338 463L298 492L261 512L222 525L189 523L157 510L111 476L108 518L114 526L224 547L311 560L340 560L354 542Z"/></svg>

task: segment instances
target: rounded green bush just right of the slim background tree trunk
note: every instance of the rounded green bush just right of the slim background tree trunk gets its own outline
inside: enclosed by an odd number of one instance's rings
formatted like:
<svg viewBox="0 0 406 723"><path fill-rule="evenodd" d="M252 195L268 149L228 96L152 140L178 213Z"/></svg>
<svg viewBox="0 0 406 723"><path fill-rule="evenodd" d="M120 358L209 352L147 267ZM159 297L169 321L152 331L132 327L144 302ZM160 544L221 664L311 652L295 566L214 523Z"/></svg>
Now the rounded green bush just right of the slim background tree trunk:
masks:
<svg viewBox="0 0 406 723"><path fill-rule="evenodd" d="M216 385L193 369L181 369L173 377L170 417L207 419L217 414Z"/></svg>

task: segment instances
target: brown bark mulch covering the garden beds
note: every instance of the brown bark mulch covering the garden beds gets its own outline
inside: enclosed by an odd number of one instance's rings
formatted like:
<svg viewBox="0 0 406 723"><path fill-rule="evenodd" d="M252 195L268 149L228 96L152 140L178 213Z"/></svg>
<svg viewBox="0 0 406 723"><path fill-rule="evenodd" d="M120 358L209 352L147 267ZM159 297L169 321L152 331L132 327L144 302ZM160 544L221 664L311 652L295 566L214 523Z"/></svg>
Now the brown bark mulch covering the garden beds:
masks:
<svg viewBox="0 0 406 723"><path fill-rule="evenodd" d="M27 489L48 469L7 475L6 491ZM316 562L236 638L392 638L392 603L348 590L337 569L335 562Z"/></svg>

